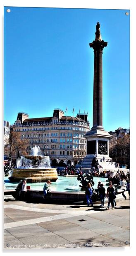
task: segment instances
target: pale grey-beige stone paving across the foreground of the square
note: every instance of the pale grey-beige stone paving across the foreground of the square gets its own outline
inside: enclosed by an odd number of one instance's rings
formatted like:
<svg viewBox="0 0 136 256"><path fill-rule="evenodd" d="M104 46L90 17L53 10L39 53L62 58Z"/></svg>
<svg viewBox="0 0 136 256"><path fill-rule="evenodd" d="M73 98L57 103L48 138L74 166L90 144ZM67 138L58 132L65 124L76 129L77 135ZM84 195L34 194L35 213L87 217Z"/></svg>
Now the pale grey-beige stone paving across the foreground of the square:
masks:
<svg viewBox="0 0 136 256"><path fill-rule="evenodd" d="M114 210L75 204L4 202L4 248L130 246L130 203Z"/></svg>

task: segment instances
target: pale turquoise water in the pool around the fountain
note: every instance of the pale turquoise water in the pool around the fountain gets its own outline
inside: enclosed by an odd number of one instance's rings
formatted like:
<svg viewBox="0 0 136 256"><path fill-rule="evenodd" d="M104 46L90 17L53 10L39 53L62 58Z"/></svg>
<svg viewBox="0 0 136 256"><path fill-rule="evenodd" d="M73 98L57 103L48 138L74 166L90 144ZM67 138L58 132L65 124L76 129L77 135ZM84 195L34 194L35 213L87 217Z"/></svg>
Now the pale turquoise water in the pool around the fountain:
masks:
<svg viewBox="0 0 136 256"><path fill-rule="evenodd" d="M10 182L8 179L10 176L4 177L4 188L6 190L11 190L17 187L19 182ZM106 185L105 178L101 177L94 177L93 181L95 182L95 185L93 188L97 188L98 182L102 182L103 185ZM30 186L31 190L43 190L45 182L36 182L36 183L27 183L28 186ZM77 180L77 177L64 177L64 176L58 176L58 180L56 182L52 182L50 186L51 191L60 191L60 192L78 192L81 191L81 182Z"/></svg>

